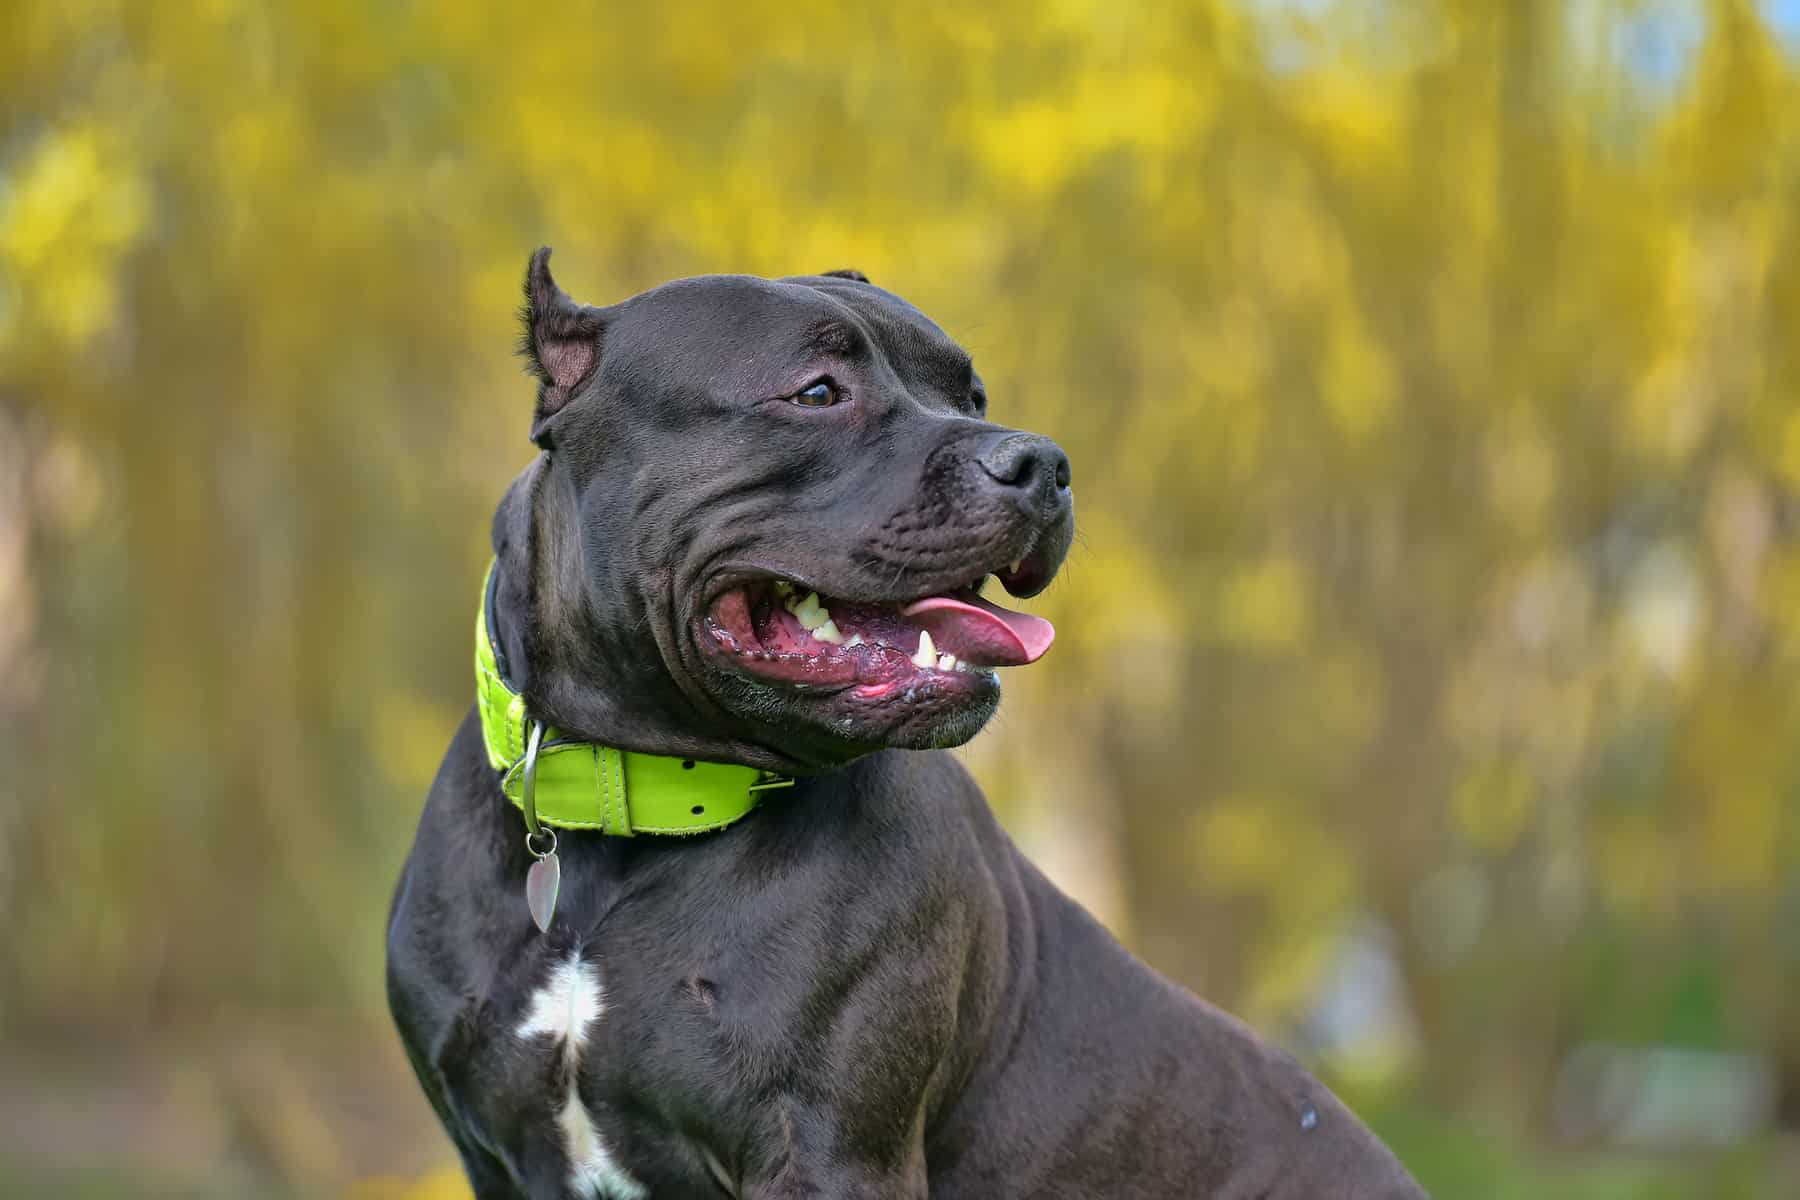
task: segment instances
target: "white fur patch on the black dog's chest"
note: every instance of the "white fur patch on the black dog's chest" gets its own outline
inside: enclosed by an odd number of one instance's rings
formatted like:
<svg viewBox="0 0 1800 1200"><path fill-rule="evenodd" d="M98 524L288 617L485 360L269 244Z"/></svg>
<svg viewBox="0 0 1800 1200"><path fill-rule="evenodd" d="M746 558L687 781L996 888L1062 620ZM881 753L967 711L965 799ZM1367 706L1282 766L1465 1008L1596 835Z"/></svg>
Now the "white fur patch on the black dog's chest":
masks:
<svg viewBox="0 0 1800 1200"><path fill-rule="evenodd" d="M531 1011L518 1022L517 1034L526 1042L554 1038L562 1047L567 1092L556 1110L556 1124L562 1126L563 1146L569 1150L569 1186L576 1195L594 1200L644 1200L650 1191L614 1162L576 1087L589 1029L605 1011L607 997L599 986L599 968L585 963L576 952L565 963L558 963L531 997Z"/></svg>

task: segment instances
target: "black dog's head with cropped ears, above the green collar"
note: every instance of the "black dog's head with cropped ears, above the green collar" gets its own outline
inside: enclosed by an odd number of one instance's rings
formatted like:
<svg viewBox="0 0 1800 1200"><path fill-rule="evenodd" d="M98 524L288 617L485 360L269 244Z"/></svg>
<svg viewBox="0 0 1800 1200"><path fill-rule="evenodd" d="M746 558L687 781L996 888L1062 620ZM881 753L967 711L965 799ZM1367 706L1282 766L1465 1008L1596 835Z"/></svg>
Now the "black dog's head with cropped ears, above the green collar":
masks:
<svg viewBox="0 0 1800 1200"><path fill-rule="evenodd" d="M679 752L819 766L967 741L994 667L1048 648L1046 621L977 592L1049 583L1069 461L990 423L968 354L900 297L855 272L713 275L587 308L540 250L524 326L545 453L508 504L531 527L526 691L553 723L581 730L599 693L596 720L679 725L700 747ZM502 506L509 572L522 520Z"/></svg>

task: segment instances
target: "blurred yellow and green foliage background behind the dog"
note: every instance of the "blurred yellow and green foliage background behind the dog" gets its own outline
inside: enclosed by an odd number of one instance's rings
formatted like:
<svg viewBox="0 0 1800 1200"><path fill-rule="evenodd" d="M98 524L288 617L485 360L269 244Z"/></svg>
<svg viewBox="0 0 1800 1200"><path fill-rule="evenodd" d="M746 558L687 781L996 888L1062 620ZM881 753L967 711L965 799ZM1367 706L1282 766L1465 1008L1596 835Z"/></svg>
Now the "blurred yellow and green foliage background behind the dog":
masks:
<svg viewBox="0 0 1800 1200"><path fill-rule="evenodd" d="M1800 1195L1800 0L4 5L0 1195L463 1195L382 932L540 243L1062 441L963 754L1436 1195Z"/></svg>

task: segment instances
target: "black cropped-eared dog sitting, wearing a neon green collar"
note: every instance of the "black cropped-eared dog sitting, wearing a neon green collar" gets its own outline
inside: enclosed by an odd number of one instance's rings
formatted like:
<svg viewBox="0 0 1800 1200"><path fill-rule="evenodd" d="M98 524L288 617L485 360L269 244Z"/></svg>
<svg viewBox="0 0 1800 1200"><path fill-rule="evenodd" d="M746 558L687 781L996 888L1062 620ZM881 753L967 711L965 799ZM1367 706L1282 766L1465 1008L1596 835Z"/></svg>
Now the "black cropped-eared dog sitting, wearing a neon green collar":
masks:
<svg viewBox="0 0 1800 1200"><path fill-rule="evenodd" d="M1127 954L947 747L1049 646L1069 461L857 272L576 304L387 984L481 1200L1424 1193ZM475 599L473 596L470 599Z"/></svg>

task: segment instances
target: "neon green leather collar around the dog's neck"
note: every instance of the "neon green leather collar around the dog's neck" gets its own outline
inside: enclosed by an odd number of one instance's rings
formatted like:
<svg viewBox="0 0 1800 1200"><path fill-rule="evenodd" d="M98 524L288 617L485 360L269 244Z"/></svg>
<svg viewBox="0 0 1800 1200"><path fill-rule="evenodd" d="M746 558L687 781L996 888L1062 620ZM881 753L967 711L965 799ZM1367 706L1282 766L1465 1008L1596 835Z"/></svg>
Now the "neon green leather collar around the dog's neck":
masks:
<svg viewBox="0 0 1800 1200"><path fill-rule="evenodd" d="M475 613L475 707L488 763L502 772L500 790L526 811L526 766L531 727L526 698L513 691L488 628L493 567ZM724 829L756 808L769 788L794 781L734 763L700 763L616 750L544 729L536 754L533 801L536 820L558 829L637 833L707 833Z"/></svg>

